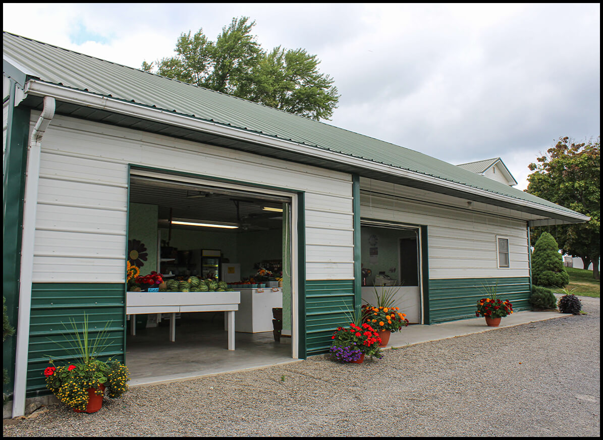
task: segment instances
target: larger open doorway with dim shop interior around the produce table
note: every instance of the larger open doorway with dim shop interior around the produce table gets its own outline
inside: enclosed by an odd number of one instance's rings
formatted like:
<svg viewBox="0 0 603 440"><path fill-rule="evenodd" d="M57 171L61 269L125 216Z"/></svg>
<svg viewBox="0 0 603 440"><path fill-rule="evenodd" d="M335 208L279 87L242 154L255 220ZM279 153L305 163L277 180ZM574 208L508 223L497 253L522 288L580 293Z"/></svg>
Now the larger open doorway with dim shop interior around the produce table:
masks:
<svg viewBox="0 0 603 440"><path fill-rule="evenodd" d="M218 294L241 292L235 350L228 350L226 312L179 312L173 323L171 313L130 315L136 330L128 331L126 362L133 383L297 358L294 198L239 184L131 170L128 260L140 274L162 274L164 289L178 281L176 292L198 292L197 281ZM273 309L282 313L279 335L273 332L279 327Z"/></svg>

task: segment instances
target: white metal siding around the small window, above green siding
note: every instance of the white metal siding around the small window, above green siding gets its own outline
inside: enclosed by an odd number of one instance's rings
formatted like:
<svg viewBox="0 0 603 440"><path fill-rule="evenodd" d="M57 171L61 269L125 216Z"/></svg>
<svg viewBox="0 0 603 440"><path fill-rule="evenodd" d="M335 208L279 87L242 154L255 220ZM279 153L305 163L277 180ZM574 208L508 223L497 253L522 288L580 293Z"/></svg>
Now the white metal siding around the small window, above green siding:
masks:
<svg viewBox="0 0 603 440"><path fill-rule="evenodd" d="M500 215L485 213L458 199L459 207L446 206L448 199L452 198L361 179L363 218L428 226L429 278L529 276L525 220L508 218L502 209ZM509 237L508 269L497 267L497 235Z"/></svg>

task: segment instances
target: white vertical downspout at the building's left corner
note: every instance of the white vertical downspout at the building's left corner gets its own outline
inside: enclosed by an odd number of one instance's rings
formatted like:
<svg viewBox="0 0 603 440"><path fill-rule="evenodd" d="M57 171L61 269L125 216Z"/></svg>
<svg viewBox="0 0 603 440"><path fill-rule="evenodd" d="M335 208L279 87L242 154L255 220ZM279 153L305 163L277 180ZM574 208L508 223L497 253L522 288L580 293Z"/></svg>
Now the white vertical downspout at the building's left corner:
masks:
<svg viewBox="0 0 603 440"><path fill-rule="evenodd" d="M17 349L14 365L13 417L25 415L25 388L27 386L27 360L30 344L31 280L34 266L34 234L38 183L40 180L40 154L42 137L54 117L55 100L44 96L44 108L38 118L27 146L27 171L23 208L23 235L21 241L21 275L19 277L19 316L17 318Z"/></svg>

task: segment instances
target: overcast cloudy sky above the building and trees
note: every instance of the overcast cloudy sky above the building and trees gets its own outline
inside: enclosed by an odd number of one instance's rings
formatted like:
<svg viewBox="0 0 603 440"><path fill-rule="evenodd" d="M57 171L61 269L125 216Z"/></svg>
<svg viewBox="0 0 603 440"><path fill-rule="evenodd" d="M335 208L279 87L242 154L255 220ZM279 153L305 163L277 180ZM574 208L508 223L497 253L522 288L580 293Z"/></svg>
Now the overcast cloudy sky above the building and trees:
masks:
<svg viewBox="0 0 603 440"><path fill-rule="evenodd" d="M5 31L140 68L233 17L318 55L330 124L450 163L501 157L520 189L560 136L600 134L600 5L4 4Z"/></svg>

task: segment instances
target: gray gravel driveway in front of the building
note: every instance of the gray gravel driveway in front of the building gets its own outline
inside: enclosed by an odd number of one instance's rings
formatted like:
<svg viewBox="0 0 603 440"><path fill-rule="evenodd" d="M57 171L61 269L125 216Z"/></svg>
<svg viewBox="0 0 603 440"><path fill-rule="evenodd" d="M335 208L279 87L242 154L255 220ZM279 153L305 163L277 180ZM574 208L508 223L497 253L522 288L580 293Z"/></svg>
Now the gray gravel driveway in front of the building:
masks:
<svg viewBox="0 0 603 440"><path fill-rule="evenodd" d="M385 351L133 388L4 436L599 436L600 300L588 315ZM44 412L45 411L45 412Z"/></svg>

